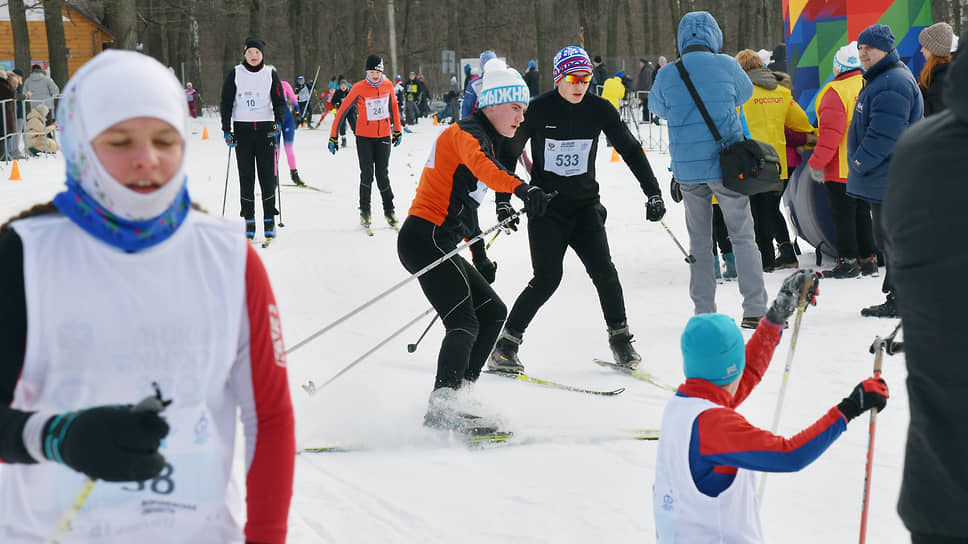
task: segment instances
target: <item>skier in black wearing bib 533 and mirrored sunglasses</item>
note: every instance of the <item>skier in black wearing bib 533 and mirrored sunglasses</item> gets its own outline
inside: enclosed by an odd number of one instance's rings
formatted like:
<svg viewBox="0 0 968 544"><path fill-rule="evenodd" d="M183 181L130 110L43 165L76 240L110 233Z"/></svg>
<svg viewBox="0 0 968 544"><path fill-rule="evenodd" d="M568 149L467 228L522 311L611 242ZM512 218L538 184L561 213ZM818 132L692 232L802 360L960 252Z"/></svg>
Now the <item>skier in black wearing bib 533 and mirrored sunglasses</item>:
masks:
<svg viewBox="0 0 968 544"><path fill-rule="evenodd" d="M491 353L488 368L492 370L524 371L518 346L528 323L558 288L568 247L578 254L598 291L615 362L637 368L642 360L631 345L622 285L605 236L606 211L595 181L601 132L648 195L646 218L662 219L665 204L641 145L622 123L618 111L607 100L587 92L591 77L592 63L584 49L568 46L559 51L554 58L555 90L531 101L524 123L502 146L501 162L513 168L525 143L531 140L531 183L558 196L551 201L547 215L528 220L534 277L515 301ZM498 195L497 200L498 219L510 217L514 213L510 195Z"/></svg>

